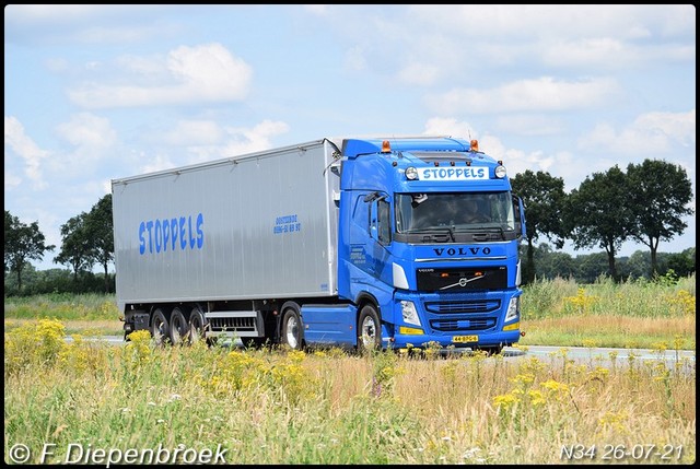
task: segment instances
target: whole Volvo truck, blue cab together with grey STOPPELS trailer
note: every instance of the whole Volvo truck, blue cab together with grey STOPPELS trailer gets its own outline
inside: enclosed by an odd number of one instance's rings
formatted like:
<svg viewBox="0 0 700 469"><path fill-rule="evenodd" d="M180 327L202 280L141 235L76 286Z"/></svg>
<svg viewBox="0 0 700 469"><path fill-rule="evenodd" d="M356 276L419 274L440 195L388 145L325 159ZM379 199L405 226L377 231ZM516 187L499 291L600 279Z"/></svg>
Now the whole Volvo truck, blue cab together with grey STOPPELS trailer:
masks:
<svg viewBox="0 0 700 469"><path fill-rule="evenodd" d="M324 138L112 186L125 338L498 353L521 337L523 202L475 140Z"/></svg>

